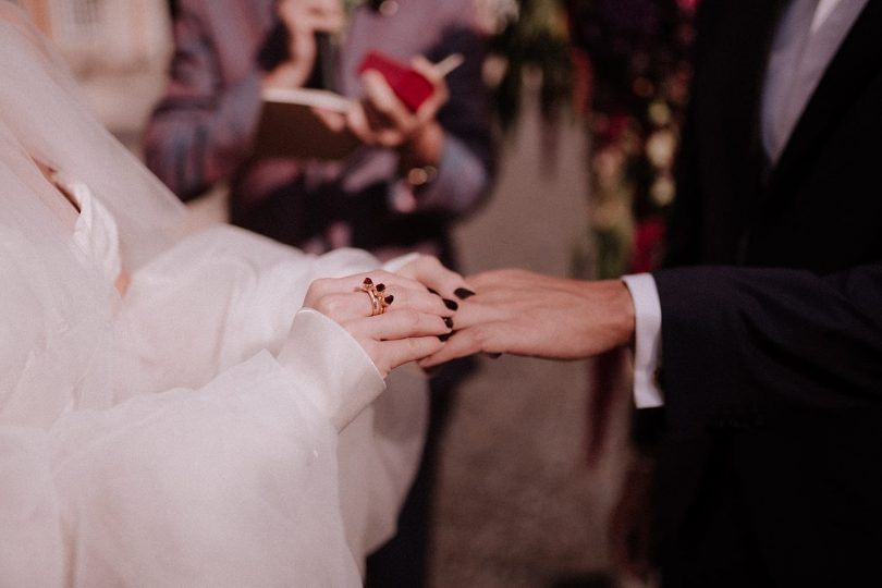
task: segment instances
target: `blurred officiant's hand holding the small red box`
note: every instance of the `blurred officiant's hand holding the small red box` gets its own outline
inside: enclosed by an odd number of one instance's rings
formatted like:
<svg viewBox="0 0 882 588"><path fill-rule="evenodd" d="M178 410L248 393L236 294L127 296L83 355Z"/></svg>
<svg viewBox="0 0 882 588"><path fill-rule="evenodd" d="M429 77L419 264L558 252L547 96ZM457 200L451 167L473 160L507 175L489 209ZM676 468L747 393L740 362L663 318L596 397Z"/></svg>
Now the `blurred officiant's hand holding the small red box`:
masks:
<svg viewBox="0 0 882 588"><path fill-rule="evenodd" d="M381 73L367 70L362 74L365 99L350 110L346 122L365 144L399 149L408 167L436 166L444 145L444 131L436 115L450 93L442 72L432 62L418 56L411 66L433 87L419 110L412 112Z"/></svg>

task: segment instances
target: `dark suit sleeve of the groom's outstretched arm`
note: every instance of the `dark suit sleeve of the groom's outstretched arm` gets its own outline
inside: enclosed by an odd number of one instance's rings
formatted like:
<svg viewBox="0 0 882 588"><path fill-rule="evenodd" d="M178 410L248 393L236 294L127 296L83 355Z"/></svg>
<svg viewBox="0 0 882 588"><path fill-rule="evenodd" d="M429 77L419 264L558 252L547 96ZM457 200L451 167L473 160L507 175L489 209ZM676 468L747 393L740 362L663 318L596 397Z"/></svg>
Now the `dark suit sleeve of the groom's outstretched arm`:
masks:
<svg viewBox="0 0 882 588"><path fill-rule="evenodd" d="M882 401L882 264L828 277L731 267L653 277L672 430Z"/></svg>

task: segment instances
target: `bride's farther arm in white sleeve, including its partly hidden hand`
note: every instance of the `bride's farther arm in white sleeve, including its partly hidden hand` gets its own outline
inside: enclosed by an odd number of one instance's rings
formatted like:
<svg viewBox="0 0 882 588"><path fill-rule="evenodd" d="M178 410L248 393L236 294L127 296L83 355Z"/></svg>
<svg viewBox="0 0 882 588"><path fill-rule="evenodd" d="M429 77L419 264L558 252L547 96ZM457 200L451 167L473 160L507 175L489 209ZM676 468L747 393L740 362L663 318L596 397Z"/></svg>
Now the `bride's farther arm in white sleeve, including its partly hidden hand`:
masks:
<svg viewBox="0 0 882 588"><path fill-rule="evenodd" d="M152 370L157 390L199 387L260 350L278 353L315 280L378 267L364 250L313 256L221 225L192 236L135 272L120 324L127 331L128 352L148 369L161 366ZM404 256L385 267L449 299L462 285L458 274L428 256Z"/></svg>

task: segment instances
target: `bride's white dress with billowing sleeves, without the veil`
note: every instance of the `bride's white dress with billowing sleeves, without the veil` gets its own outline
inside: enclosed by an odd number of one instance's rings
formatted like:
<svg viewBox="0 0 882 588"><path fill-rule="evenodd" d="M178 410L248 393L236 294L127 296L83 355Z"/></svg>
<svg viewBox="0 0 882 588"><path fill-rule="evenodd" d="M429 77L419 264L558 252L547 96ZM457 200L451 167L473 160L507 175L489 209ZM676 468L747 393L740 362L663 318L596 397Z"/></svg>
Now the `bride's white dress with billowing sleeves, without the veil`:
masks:
<svg viewBox="0 0 882 588"><path fill-rule="evenodd" d="M57 181L81 210L77 262L115 308L72 365L46 360L76 341L70 317L39 341L0 332L0 585L358 585L421 449L425 387L401 373L377 399L362 347L299 307L314 278L376 260L222 225L139 267L120 298L113 217ZM0 231L5 255L27 255L15 240ZM0 261L7 280L20 268Z"/></svg>

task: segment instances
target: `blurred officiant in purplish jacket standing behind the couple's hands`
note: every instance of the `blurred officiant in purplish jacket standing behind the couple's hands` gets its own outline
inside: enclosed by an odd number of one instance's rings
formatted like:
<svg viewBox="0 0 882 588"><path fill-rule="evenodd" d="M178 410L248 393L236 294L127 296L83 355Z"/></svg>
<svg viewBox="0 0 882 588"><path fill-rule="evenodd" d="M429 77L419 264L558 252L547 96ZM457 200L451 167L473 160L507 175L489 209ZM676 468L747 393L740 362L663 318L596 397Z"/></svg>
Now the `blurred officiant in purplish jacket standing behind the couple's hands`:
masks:
<svg viewBox="0 0 882 588"><path fill-rule="evenodd" d="M172 10L171 78L144 149L180 198L225 182L231 221L282 243L355 246L380 259L431 253L455 267L450 226L486 196L494 167L473 0L179 0ZM445 78L418 62L433 94L413 113L376 72L358 75L371 49L404 62L465 60ZM261 91L302 86L355 99L345 124L365 146L342 161L254 157ZM468 365L431 380L424 467L399 536L369 563L369 584L424 581L436 445Z"/></svg>

